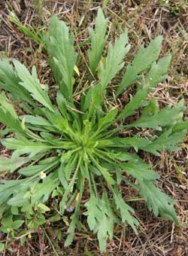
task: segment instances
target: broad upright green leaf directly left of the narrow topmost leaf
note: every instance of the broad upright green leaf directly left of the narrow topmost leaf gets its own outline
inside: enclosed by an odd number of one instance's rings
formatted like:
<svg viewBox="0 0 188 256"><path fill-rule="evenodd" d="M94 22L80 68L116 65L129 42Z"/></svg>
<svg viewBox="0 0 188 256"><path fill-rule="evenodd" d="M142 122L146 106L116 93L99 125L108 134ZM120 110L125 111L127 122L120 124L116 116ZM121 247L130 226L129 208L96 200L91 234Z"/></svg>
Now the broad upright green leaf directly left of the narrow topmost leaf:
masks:
<svg viewBox="0 0 188 256"><path fill-rule="evenodd" d="M77 54L74 51L73 35L69 35L68 27L55 15L50 20L47 53L53 57L50 65L65 99L72 98L72 75Z"/></svg>

